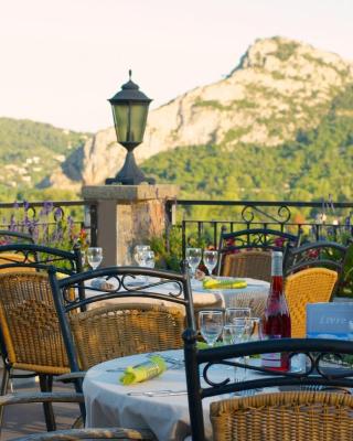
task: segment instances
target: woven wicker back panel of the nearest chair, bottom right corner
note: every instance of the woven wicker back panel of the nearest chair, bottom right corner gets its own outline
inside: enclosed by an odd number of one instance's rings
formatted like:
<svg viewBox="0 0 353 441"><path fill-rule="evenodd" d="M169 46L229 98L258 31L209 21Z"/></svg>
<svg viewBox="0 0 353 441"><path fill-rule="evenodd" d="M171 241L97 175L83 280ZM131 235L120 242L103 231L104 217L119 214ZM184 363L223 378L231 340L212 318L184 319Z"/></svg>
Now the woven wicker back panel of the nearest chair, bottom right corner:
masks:
<svg viewBox="0 0 353 441"><path fill-rule="evenodd" d="M214 441L351 441L353 397L287 391L211 404Z"/></svg>

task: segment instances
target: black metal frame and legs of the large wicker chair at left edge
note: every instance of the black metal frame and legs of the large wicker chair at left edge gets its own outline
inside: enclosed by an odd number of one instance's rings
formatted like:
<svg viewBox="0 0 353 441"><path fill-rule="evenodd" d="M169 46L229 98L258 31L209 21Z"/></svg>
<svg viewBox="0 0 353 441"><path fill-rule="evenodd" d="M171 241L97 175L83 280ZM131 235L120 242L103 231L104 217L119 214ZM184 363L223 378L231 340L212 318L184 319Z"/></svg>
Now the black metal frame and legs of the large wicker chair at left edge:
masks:
<svg viewBox="0 0 353 441"><path fill-rule="evenodd" d="M12 260L11 257L2 257L1 254L15 254L21 256L22 261ZM61 273L73 275L82 272L82 255L79 247L75 247L73 251L65 251L56 248L50 248L35 244L9 244L0 246L0 259L8 263L0 263L0 270L6 268L34 268L36 271L47 271L49 266L55 266L60 262L67 262L68 267L58 269ZM1 292L0 292L1 295ZM84 297L84 287L78 287L79 298ZM1 395L6 395L11 378L29 378L36 374L12 374L12 366L8 361L8 352L0 329L0 349L3 362L3 374L1 380ZM41 391L51 391L53 387L53 376L41 374L40 376ZM49 430L55 429L55 419L50 404L44 404L45 421ZM0 428L3 418L3 408L0 408Z"/></svg>

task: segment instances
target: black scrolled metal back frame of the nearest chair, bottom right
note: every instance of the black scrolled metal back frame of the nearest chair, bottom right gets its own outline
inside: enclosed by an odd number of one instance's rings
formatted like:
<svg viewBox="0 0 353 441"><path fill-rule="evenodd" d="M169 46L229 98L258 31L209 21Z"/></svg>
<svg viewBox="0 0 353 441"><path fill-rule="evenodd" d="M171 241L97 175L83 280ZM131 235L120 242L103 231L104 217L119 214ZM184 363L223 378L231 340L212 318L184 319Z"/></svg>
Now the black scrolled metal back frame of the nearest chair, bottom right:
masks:
<svg viewBox="0 0 353 441"><path fill-rule="evenodd" d="M184 359L186 370L186 385L189 398L189 412L193 441L204 441L204 420L202 399L242 390L259 389L266 387L291 386L322 386L322 387L353 387L353 365L347 369L336 373L325 370L322 366L328 355L353 355L353 344L347 341L324 338L281 338L261 342L242 343L236 345L214 347L200 351L196 347L196 333L186 330L183 334ZM303 373L281 373L259 366L249 366L242 363L242 357L268 353L288 353L289 357L306 354L307 369ZM234 359L237 359L236 362ZM205 364L202 377L207 387L201 386L201 365ZM236 383L227 378L220 383L212 380L208 369L213 365L225 365L248 368L254 372L267 373L268 376Z"/></svg>

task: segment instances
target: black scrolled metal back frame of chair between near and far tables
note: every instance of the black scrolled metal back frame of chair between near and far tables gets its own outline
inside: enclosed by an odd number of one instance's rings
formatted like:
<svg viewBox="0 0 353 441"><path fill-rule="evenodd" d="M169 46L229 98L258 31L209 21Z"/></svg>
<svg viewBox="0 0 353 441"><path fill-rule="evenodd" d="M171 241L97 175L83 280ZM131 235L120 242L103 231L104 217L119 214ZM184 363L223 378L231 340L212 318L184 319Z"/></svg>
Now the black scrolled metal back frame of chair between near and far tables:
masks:
<svg viewBox="0 0 353 441"><path fill-rule="evenodd" d="M188 327L195 329L192 291L188 273L178 273L173 271L164 271L141 267L107 267L93 271L82 272L62 280L58 280L56 278L55 268L50 268L49 276L58 321L62 327L64 343L67 351L67 357L73 373L79 373L81 369L75 351L75 343L67 321L67 313L77 309L82 310L83 306L87 306L88 304L108 299L136 299L141 297L174 302L176 304L185 306ZM137 276L158 278L161 280L156 282L147 281L139 287L129 286L128 278L136 278ZM107 291L106 288L89 288L90 290L96 291L97 294L87 299L77 298L74 301L69 300L67 293L71 288L76 288L81 283L85 283L88 280L97 278L105 278L107 281L114 279L118 282L118 287L111 289L110 291ZM147 289L162 287L163 284L170 282L175 283L176 292L160 293L147 291ZM75 380L75 387L77 392L82 391L82 378L77 378Z"/></svg>

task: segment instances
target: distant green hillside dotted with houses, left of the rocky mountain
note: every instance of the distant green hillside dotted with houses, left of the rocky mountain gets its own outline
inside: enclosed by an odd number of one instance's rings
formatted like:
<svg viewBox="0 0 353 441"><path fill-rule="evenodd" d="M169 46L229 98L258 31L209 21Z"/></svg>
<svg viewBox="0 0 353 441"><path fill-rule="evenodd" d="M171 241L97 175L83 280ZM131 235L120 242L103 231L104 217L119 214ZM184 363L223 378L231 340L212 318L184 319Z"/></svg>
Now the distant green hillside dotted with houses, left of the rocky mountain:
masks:
<svg viewBox="0 0 353 441"><path fill-rule="evenodd" d="M0 118L2 200L13 201L17 194L24 194L29 189L43 185L49 172L65 163L77 150L82 150L88 136L89 133L63 130L49 123ZM75 172L68 170L68 176L75 178Z"/></svg>

